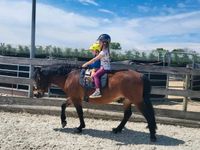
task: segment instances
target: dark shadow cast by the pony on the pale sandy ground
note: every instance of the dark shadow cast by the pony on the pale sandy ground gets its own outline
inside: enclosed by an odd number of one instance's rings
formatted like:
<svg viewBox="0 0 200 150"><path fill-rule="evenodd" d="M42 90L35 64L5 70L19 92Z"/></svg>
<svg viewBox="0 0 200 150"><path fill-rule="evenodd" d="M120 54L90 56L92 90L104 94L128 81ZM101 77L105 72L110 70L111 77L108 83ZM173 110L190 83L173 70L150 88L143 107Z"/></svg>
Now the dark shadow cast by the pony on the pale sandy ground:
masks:
<svg viewBox="0 0 200 150"><path fill-rule="evenodd" d="M56 132L64 132L70 134L75 133L74 128L55 128ZM133 131L125 128L122 133L114 134L112 132L96 130L96 129L84 129L80 135L89 135L91 137L110 139L119 142L118 145L128 144L152 144L152 145L164 145L164 146L176 146L184 144L185 142L176 138L157 135L157 141L151 143L149 140L149 133Z"/></svg>

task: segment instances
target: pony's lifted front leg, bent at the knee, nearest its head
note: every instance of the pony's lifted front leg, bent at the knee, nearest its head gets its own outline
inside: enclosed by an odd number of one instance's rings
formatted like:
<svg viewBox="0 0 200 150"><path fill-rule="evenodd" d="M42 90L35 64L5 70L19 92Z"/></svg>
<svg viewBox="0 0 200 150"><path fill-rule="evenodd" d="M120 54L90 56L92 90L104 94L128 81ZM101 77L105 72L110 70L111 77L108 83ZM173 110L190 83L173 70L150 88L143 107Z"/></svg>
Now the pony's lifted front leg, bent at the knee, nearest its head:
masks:
<svg viewBox="0 0 200 150"><path fill-rule="evenodd" d="M67 98L67 100L61 105L61 115L60 115L60 118L61 118L61 124L62 124L62 127L64 128L67 124L67 121L66 121L66 115L65 115L65 109L67 106L71 105L72 101L70 98Z"/></svg>

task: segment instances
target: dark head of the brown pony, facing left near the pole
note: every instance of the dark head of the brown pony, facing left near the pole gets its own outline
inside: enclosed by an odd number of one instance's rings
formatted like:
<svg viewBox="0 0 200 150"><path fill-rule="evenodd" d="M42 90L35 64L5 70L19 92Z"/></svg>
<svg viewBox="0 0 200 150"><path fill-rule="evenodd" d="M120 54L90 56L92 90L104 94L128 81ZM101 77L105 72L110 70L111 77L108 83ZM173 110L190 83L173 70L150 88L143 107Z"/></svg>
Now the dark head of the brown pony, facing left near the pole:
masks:
<svg viewBox="0 0 200 150"><path fill-rule="evenodd" d="M37 98L43 97L44 93L48 90L48 76L41 70L40 67L36 67L33 73L33 95Z"/></svg>

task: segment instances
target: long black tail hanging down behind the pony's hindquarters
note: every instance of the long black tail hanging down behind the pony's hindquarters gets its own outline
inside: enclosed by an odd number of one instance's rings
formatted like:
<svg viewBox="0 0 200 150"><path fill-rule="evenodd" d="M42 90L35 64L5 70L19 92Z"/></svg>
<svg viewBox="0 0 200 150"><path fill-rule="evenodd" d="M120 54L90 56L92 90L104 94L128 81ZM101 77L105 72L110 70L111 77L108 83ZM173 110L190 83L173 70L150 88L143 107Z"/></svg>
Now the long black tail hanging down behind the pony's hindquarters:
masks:
<svg viewBox="0 0 200 150"><path fill-rule="evenodd" d="M142 80L143 80L143 99L146 105L145 111L147 111L147 115L149 116L148 118L150 119L152 128L156 129L157 126L156 126L156 121L155 121L155 112L150 100L151 82L146 75L142 76Z"/></svg>

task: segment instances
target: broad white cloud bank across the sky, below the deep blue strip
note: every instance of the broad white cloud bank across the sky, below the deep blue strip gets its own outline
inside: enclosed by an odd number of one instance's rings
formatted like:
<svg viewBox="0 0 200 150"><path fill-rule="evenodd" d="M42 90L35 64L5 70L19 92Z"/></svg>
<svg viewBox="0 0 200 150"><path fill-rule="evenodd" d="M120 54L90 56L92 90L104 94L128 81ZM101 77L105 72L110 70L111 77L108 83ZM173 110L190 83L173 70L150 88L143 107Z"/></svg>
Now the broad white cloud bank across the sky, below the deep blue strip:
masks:
<svg viewBox="0 0 200 150"><path fill-rule="evenodd" d="M124 49L154 49L163 47L194 48L200 43L151 42L152 38L200 34L200 11L162 17L112 20L66 12L53 6L37 3L36 45L57 45L87 48L101 33L108 33ZM0 43L30 45L31 2L0 1Z"/></svg>

